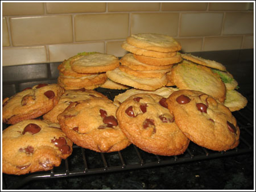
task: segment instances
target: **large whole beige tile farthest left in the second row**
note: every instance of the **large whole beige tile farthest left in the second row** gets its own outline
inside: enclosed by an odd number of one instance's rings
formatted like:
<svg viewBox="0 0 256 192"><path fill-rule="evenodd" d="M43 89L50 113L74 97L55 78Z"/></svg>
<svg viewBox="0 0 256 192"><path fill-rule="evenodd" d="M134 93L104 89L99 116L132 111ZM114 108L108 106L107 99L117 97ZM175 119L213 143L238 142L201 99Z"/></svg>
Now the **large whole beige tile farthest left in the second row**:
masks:
<svg viewBox="0 0 256 192"><path fill-rule="evenodd" d="M14 46L70 43L73 40L71 15L10 18L10 27Z"/></svg>

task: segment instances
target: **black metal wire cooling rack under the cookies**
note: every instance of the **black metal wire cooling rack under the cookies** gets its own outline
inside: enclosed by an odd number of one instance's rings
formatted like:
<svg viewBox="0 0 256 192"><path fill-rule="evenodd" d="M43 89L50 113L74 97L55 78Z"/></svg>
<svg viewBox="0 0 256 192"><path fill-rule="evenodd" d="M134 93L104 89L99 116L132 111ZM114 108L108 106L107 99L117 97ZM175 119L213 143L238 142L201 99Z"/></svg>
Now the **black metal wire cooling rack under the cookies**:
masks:
<svg viewBox="0 0 256 192"><path fill-rule="evenodd" d="M98 90L113 100L114 96L121 91ZM82 175L119 172L131 169L150 168L154 166L164 166L182 164L184 162L209 160L226 156L237 156L243 153L253 153L254 151L254 122L253 122L253 102L240 111L233 112L240 126L241 136L238 147L229 150L216 152L205 149L190 143L183 155L179 156L159 156L142 151L135 145L130 145L126 149L112 153L97 153L89 149L73 145L72 155L61 162L59 167L55 167L47 172L36 172L24 176L13 176L3 174L3 189L19 189L26 183L34 180L44 180L60 177L75 177ZM10 183L11 181L11 183Z"/></svg>

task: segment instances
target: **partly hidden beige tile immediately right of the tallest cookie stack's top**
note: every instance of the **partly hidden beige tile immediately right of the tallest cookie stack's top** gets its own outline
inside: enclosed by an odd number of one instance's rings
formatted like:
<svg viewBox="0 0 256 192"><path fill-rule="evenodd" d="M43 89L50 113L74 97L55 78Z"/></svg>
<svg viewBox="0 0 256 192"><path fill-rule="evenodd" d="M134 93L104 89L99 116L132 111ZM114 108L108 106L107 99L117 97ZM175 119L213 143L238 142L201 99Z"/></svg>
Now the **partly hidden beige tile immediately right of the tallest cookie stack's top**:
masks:
<svg viewBox="0 0 256 192"><path fill-rule="evenodd" d="M181 44L182 52L199 52L202 49L203 38L178 38L176 40Z"/></svg>

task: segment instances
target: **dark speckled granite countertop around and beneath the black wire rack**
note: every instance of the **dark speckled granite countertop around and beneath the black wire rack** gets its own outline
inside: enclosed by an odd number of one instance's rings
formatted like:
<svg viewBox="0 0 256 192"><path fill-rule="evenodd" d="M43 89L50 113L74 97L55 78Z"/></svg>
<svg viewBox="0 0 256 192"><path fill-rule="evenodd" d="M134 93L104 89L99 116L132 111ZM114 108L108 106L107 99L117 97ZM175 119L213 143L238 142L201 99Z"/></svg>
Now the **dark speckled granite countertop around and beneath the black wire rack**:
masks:
<svg viewBox="0 0 256 192"><path fill-rule="evenodd" d="M245 122L243 126L250 126L254 133L254 50L232 50L232 51L214 51L214 52L197 52L195 56L204 59L215 60L226 66L238 82L242 93L250 101L248 103L249 110L241 110L238 115L245 114ZM25 87L36 85L39 82L56 82L59 75L57 71L59 63L34 64L22 66L6 66L2 68L2 98L10 97L16 92L23 90ZM248 112L249 111L249 112ZM246 112L246 113L244 113ZM244 118L242 118L244 119ZM248 120L248 122L247 122ZM242 120L243 121L243 120ZM253 126L254 125L254 126ZM7 125L3 124L2 128ZM253 136L251 137L253 140ZM245 139L247 140L247 139ZM245 141L246 142L246 141ZM181 156L177 156L180 161L171 161L170 164L152 164L149 166L141 166L135 169L119 169L114 172L94 172L93 174L76 175L69 177L57 177L28 181L24 185L19 186L22 190L255 190L254 186L254 146L253 150L239 153L232 152L230 155L209 155L207 158L196 158L197 152L193 150L195 157L187 161ZM195 144L194 144L195 145ZM132 147L130 147L132 148ZM76 149L80 150L80 148ZM76 151L75 150L75 151ZM127 152L130 149L127 149ZM90 153L86 149L86 154ZM91 152L92 156L88 157L88 165L97 168L100 153ZM126 153L124 151L123 153ZM190 153L190 152L189 152ZM142 153L142 158L144 153ZM129 156L130 153L127 153ZM69 168L80 166L80 157L74 157L68 162ZM133 155L130 155L131 157ZM95 158L94 158L95 157ZM118 154L106 155L108 164L115 164L114 160L109 162L109 158L118 158ZM147 157L147 156L146 156ZM149 156L151 158L151 156ZM147 159L147 158L146 158ZM183 161L184 160L184 161ZM127 160L126 160L127 161ZM162 162L162 161L161 161ZM65 162L61 165L65 167ZM146 164L145 164L146 165ZM67 166L67 165L66 165ZM56 168L57 171L58 168ZM61 168L60 168L61 169ZM75 169L75 168L74 168ZM72 171L72 170L71 170ZM42 173L42 172L40 172ZM47 172L49 173L49 172ZM27 176L12 176L3 174L3 189L15 186L17 182L23 180Z"/></svg>

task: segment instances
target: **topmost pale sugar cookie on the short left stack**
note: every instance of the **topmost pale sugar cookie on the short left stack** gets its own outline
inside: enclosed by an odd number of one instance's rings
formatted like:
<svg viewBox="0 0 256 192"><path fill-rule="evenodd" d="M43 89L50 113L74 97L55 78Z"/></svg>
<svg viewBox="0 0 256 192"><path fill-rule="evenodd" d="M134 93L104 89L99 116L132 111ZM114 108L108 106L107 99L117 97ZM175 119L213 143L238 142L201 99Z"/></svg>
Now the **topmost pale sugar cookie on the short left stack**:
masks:
<svg viewBox="0 0 256 192"><path fill-rule="evenodd" d="M119 66L119 59L114 55L95 53L83 55L70 61L72 70L77 73L101 73Z"/></svg>

